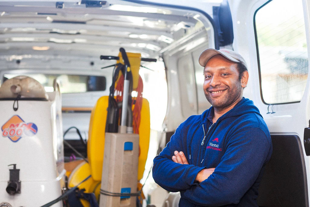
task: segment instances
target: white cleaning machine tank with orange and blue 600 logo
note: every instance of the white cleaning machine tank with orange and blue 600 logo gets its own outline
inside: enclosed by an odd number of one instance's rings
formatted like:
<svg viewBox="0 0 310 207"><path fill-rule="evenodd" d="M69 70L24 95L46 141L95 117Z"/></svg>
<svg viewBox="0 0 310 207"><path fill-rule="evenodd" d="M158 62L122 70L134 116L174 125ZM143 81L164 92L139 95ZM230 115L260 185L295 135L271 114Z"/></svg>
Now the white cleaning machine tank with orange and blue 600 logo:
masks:
<svg viewBox="0 0 310 207"><path fill-rule="evenodd" d="M64 186L61 95L18 76L0 87L0 205L42 206ZM62 206L61 202L53 206Z"/></svg>

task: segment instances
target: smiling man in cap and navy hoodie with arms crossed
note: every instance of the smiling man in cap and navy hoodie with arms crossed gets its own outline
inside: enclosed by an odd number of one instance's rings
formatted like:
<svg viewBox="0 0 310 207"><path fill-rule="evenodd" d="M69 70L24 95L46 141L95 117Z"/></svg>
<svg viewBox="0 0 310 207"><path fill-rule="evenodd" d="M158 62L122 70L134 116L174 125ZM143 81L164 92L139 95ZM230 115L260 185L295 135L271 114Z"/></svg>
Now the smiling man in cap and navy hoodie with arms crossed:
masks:
<svg viewBox="0 0 310 207"><path fill-rule="evenodd" d="M180 124L154 158L153 178L168 191L180 191L179 206L258 206L272 143L258 108L242 97L246 62L237 52L207 49L199 64L212 106Z"/></svg>

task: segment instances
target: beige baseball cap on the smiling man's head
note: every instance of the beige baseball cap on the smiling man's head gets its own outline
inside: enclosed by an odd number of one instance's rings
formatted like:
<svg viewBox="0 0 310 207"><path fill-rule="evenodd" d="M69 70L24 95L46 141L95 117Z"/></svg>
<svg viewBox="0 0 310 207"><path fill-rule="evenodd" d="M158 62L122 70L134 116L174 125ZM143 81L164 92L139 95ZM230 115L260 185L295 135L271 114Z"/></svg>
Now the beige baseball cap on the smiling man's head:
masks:
<svg viewBox="0 0 310 207"><path fill-rule="evenodd" d="M222 55L232 62L237 62L237 63L241 62L244 66L246 66L246 68L248 68L246 65L246 61L243 59L243 57L239 53L232 51L232 50L228 50L228 49L220 49L220 50L207 49L203 51L201 55L199 56L199 64L202 67L205 67L207 62L211 59L211 57L215 55Z"/></svg>

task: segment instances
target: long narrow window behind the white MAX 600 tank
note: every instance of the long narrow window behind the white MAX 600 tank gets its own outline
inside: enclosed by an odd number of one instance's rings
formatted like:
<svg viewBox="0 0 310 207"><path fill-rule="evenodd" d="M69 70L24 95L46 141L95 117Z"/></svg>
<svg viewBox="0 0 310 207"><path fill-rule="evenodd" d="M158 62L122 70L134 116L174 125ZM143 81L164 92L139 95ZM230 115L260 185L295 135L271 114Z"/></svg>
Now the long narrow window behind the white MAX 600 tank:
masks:
<svg viewBox="0 0 310 207"><path fill-rule="evenodd" d="M41 83L46 92L52 92L54 79L58 80L61 93L82 93L87 91L104 91L106 79L104 76L88 75L49 75L49 74L4 74L4 79L26 75Z"/></svg>

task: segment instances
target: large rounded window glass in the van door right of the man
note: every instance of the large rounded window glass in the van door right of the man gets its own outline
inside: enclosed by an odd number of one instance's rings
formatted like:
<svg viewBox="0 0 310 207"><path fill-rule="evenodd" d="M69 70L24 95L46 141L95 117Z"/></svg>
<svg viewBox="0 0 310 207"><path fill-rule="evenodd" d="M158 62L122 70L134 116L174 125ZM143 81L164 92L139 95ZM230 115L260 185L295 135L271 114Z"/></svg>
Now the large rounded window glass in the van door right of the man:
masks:
<svg viewBox="0 0 310 207"><path fill-rule="evenodd" d="M254 27L263 102L300 102L308 77L302 1L267 2L255 12Z"/></svg>

